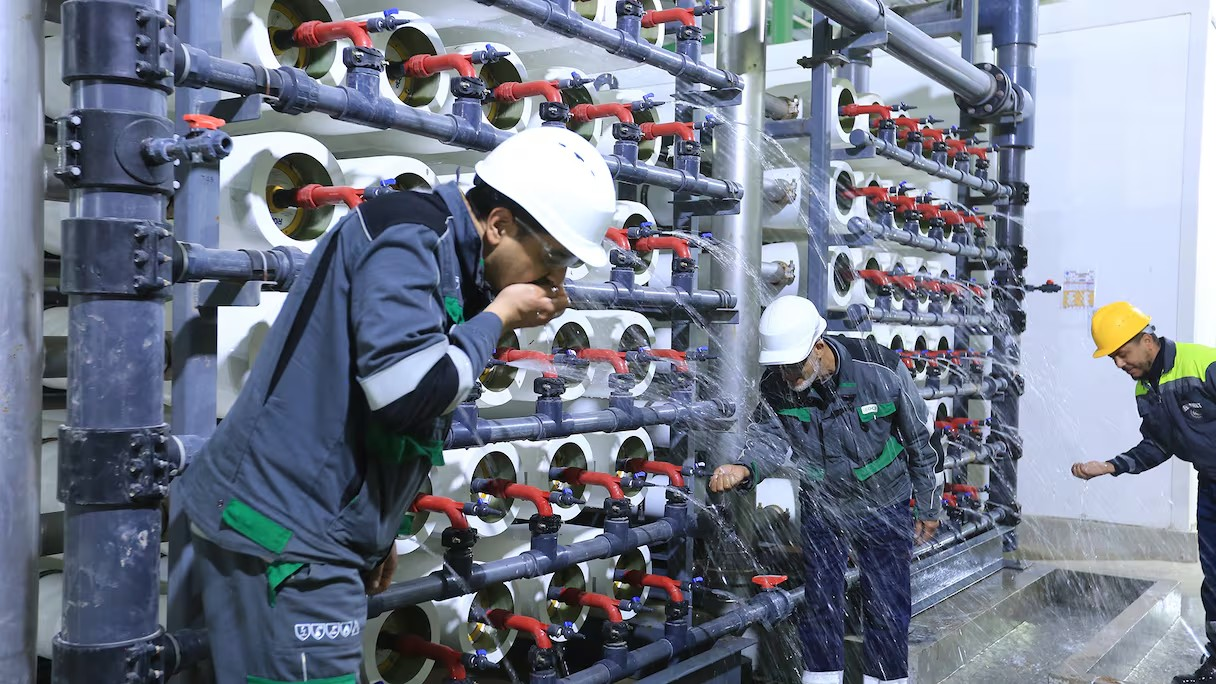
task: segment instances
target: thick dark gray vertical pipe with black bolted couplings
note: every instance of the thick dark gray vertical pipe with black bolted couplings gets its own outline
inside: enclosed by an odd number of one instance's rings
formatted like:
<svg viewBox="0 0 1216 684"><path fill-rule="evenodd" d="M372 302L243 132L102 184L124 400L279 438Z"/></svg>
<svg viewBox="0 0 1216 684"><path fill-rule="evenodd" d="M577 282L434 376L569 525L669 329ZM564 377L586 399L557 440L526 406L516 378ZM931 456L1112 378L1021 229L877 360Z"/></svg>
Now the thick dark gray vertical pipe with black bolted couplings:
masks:
<svg viewBox="0 0 1216 684"><path fill-rule="evenodd" d="M92 128L94 140L77 158L86 174L69 190L72 219L81 220L72 222L74 231L64 223L64 274L122 273L113 269L134 258L131 245L148 239L147 224L164 222L167 187L128 170L141 163L139 138L120 135L130 130L124 123L108 130L112 119L98 118L139 117L120 120L168 133L167 94L90 57L123 54L131 33L137 33L146 37L139 49L148 54L148 62L163 66L163 55L171 54L164 49L169 21L165 0L130 0L125 7L95 0L63 5L64 82L71 86L72 107L81 114L81 125ZM152 63L142 73L156 68ZM125 164L125 173L109 166L114 158ZM112 252L68 248L73 232L89 236L102 230ZM130 252L124 254L124 248ZM64 285L61 288L68 291ZM60 439L66 510L56 684L118 682L147 677L154 669L161 500L154 486L136 489L140 476L135 473L147 473L145 466L159 467L148 462L151 456L136 461L158 444L136 436L164 430L165 295L163 290L120 290L116 280L101 277L81 280L69 292L67 430L73 438Z"/></svg>

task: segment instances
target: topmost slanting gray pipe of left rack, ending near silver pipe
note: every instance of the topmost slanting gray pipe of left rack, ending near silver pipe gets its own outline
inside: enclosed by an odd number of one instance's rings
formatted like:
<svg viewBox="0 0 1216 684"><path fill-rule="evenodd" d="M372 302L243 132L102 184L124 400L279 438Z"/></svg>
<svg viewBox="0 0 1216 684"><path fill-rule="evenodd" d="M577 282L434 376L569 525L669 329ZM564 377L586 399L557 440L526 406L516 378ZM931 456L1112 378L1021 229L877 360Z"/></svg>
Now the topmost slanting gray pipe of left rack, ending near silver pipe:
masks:
<svg viewBox="0 0 1216 684"><path fill-rule="evenodd" d="M477 0L482 5L490 5L524 17L534 24L547 28L553 33L580 38L608 50L613 55L620 55L635 62L658 67L669 74L685 80L703 83L710 88L739 88L741 82L737 74L727 71L706 67L699 62L689 60L683 55L664 50L629 35L627 33L582 18L578 12L563 11L556 2L547 0Z"/></svg>

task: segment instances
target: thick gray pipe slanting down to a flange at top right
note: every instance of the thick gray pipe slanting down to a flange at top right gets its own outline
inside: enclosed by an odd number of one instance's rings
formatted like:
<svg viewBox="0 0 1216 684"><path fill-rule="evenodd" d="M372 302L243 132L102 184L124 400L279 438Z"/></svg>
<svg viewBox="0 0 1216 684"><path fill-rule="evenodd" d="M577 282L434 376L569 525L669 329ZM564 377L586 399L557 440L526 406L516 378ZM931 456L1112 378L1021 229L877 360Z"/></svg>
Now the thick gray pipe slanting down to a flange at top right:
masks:
<svg viewBox="0 0 1216 684"><path fill-rule="evenodd" d="M945 85L966 102L979 105L997 91L992 74L941 45L879 0L804 0L832 21L857 33L885 33L883 50Z"/></svg>

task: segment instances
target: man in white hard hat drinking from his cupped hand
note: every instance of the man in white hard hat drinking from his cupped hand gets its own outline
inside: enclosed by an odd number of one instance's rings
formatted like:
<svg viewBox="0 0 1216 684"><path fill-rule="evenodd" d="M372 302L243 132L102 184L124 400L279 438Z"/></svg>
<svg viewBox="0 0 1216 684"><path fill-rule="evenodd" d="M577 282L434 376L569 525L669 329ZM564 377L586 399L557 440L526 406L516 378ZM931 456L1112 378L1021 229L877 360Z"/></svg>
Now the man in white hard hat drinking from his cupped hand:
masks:
<svg viewBox="0 0 1216 684"><path fill-rule="evenodd" d="M503 330L604 265L615 186L559 128L519 133L473 187L370 200L322 237L236 404L175 483L219 684L359 680L367 594L452 410Z"/></svg>

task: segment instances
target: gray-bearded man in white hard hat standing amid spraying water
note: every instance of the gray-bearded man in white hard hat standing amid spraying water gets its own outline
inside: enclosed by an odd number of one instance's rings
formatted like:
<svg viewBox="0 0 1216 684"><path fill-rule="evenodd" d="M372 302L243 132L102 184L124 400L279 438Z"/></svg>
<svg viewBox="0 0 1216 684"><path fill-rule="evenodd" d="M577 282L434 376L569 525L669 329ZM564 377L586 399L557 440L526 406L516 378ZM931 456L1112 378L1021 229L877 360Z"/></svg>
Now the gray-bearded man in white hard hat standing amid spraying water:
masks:
<svg viewBox="0 0 1216 684"><path fill-rule="evenodd" d="M850 548L865 594L865 682L906 684L913 538L925 542L938 528L939 455L929 445L928 408L899 354L824 330L803 297L781 297L760 316L769 417L751 427L761 438L749 441L739 464L716 469L709 487L751 487L777 472L801 481L803 684L844 679ZM788 449L772 448L773 434Z"/></svg>

